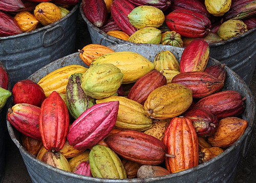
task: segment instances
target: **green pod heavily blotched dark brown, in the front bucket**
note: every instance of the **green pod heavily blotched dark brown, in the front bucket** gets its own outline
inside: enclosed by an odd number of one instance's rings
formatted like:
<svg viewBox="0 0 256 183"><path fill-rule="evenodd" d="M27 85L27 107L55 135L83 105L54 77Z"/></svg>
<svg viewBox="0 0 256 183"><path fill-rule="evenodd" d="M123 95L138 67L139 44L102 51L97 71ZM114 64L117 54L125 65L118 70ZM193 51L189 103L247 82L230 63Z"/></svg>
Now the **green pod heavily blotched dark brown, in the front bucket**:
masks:
<svg viewBox="0 0 256 183"><path fill-rule="evenodd" d="M81 87L82 74L75 73L69 77L66 88L67 107L71 116L77 119L81 113L95 104L95 99L86 95Z"/></svg>

